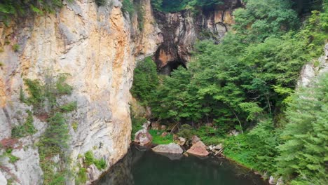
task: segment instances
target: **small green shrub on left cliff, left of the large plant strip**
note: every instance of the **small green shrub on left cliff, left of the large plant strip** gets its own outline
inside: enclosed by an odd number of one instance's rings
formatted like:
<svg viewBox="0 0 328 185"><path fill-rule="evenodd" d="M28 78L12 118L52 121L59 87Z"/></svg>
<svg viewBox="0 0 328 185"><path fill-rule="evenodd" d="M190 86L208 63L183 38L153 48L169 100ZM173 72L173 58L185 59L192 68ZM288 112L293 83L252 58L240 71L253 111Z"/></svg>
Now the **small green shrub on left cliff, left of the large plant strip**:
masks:
<svg viewBox="0 0 328 185"><path fill-rule="evenodd" d="M27 135L33 135L36 133L36 129L33 125L33 115L31 111L27 111L27 119L23 125L15 126L11 130L11 137L20 138L25 137Z"/></svg>

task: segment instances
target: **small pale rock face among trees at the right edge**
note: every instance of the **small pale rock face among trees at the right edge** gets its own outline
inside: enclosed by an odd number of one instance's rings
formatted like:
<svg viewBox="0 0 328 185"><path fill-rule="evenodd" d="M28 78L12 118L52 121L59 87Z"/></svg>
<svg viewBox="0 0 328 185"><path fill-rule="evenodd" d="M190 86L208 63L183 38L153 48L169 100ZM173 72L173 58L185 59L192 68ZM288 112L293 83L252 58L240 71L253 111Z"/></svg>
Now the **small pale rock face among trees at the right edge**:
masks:
<svg viewBox="0 0 328 185"><path fill-rule="evenodd" d="M328 43L324 46L324 55L315 62L304 65L297 83L298 87L309 87L315 77L328 72Z"/></svg>

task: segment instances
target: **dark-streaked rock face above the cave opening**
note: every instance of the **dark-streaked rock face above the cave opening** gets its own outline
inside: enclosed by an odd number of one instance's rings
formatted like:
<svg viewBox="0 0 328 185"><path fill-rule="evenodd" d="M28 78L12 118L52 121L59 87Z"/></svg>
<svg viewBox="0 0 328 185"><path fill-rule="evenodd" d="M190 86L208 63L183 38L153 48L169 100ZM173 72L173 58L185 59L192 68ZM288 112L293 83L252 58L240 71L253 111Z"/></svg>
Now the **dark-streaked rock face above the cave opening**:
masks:
<svg viewBox="0 0 328 185"><path fill-rule="evenodd" d="M233 11L241 6L240 0L226 0L224 4L204 9L197 15L191 11L155 12L159 37L163 38L154 57L160 72L170 74L172 69L186 67L197 39L212 38L219 43L234 23Z"/></svg>

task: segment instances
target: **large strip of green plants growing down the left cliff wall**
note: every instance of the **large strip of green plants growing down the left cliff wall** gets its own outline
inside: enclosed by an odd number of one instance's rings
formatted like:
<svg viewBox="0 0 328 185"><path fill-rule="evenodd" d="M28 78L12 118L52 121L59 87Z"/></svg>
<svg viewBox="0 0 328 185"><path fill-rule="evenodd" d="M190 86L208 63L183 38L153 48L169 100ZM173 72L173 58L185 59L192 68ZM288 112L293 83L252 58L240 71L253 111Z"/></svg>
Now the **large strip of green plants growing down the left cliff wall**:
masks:
<svg viewBox="0 0 328 185"><path fill-rule="evenodd" d="M20 100L33 106L33 113L29 113L27 122L13 128L14 137L25 137L36 130L33 126L33 116L46 117L48 127L36 144L39 147L40 166L43 170L43 184L64 184L69 174L67 156L69 142L69 128L65 113L76 109L76 102L69 102L60 106L58 99L63 95L71 94L71 86L65 81L67 74L53 76L46 75L45 83L38 80L25 79L28 97L20 90ZM55 163L52 158L59 156L60 163ZM54 169L57 169L56 172Z"/></svg>

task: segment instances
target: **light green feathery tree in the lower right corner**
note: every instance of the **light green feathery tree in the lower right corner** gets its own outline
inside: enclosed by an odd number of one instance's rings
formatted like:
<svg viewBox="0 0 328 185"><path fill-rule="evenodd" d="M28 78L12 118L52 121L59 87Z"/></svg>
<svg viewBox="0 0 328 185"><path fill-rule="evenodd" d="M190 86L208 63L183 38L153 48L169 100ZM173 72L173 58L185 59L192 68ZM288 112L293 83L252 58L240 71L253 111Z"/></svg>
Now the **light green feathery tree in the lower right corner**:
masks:
<svg viewBox="0 0 328 185"><path fill-rule="evenodd" d="M287 109L278 172L292 184L327 184L328 75L303 88Z"/></svg>

